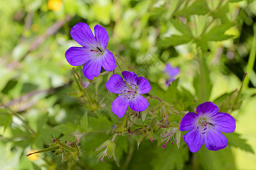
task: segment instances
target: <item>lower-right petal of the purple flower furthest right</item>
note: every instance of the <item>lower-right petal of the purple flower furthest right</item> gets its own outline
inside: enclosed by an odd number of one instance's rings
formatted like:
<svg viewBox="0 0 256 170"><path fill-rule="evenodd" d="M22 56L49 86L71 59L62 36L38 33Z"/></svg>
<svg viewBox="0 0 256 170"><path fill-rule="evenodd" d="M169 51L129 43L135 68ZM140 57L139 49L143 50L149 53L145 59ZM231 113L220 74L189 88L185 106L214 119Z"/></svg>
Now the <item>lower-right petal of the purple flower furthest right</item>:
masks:
<svg viewBox="0 0 256 170"><path fill-rule="evenodd" d="M228 145L228 139L218 130L208 128L203 134L204 144L211 151L217 151Z"/></svg>

